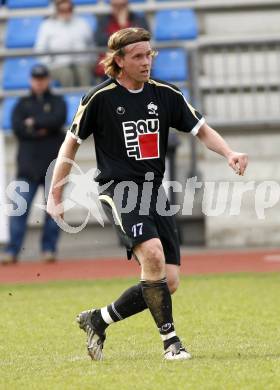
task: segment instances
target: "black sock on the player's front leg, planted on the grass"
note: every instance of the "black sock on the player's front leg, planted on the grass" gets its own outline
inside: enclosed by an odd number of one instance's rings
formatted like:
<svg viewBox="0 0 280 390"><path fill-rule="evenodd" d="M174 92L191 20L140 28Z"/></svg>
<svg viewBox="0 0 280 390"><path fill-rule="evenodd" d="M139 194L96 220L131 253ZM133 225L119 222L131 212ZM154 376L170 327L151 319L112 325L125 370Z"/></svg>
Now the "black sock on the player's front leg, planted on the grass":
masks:
<svg viewBox="0 0 280 390"><path fill-rule="evenodd" d="M166 278L157 281L142 280L141 285L143 297L166 349L170 344L179 341L173 324L172 300Z"/></svg>

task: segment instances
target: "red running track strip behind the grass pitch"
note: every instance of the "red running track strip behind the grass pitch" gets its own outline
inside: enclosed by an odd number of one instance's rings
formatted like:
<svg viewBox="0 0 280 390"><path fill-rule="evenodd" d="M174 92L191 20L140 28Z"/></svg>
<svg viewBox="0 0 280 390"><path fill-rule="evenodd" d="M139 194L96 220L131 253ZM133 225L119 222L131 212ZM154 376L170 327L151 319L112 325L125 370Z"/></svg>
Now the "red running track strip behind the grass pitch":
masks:
<svg viewBox="0 0 280 390"><path fill-rule="evenodd" d="M54 264L22 262L0 265L0 283L32 283L54 280L94 280L139 275L139 265L125 258L58 261ZM231 272L278 272L280 249L261 251L184 252L183 275Z"/></svg>

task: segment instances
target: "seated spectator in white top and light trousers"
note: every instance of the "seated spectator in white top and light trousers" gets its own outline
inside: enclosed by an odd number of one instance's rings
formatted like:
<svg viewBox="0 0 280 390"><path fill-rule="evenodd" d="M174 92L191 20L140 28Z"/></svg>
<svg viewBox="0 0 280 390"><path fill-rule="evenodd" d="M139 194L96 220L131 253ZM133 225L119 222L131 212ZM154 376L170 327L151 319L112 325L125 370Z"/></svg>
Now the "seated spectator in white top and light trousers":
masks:
<svg viewBox="0 0 280 390"><path fill-rule="evenodd" d="M56 0L55 9L55 15L45 20L39 29L35 50L73 51L73 54L43 57L42 61L61 86L89 86L92 84L92 55L75 55L74 52L93 46L93 31L86 20L75 16L71 0Z"/></svg>

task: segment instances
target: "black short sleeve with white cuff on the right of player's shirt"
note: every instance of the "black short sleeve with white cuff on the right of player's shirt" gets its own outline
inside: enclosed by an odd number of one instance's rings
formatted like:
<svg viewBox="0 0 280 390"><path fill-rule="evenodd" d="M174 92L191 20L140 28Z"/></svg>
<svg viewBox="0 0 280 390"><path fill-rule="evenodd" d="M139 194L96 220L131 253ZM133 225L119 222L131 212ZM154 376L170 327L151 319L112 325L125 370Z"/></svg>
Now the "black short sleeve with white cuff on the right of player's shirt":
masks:
<svg viewBox="0 0 280 390"><path fill-rule="evenodd" d="M197 135L205 123L203 116L185 99L181 91L174 92L172 127L185 133Z"/></svg>

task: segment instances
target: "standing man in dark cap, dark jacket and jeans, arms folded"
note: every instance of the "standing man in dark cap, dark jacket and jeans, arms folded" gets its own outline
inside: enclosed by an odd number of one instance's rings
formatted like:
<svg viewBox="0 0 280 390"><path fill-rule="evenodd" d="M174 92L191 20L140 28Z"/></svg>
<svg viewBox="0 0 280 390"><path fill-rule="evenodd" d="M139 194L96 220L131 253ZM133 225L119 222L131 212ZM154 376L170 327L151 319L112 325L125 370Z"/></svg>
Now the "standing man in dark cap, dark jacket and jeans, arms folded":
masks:
<svg viewBox="0 0 280 390"><path fill-rule="evenodd" d="M2 264L15 263L18 259L27 217L32 200L40 185L45 183L49 164L57 157L64 140L66 104L61 96L50 89L50 77L45 65L35 65L31 72L31 91L19 99L12 113L12 126L18 141L17 180L28 183L29 190L16 192L26 201L27 210L21 216L10 218L10 242L2 256ZM59 228L45 214L41 249L45 261L54 261Z"/></svg>

